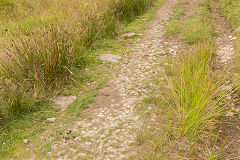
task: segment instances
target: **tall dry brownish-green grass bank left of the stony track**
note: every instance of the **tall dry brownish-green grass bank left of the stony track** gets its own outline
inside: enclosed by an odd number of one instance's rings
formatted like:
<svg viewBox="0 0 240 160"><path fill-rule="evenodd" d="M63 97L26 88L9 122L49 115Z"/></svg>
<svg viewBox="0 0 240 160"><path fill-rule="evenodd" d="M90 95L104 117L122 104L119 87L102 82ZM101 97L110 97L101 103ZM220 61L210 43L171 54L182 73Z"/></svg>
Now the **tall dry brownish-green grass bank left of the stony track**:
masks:
<svg viewBox="0 0 240 160"><path fill-rule="evenodd" d="M31 111L41 99L71 81L75 71L94 61L88 50L97 40L116 36L122 24L153 2L0 1L4 13L0 17L7 27L0 27L0 115L1 111L5 116ZM17 16L19 12L32 15L23 18Z"/></svg>

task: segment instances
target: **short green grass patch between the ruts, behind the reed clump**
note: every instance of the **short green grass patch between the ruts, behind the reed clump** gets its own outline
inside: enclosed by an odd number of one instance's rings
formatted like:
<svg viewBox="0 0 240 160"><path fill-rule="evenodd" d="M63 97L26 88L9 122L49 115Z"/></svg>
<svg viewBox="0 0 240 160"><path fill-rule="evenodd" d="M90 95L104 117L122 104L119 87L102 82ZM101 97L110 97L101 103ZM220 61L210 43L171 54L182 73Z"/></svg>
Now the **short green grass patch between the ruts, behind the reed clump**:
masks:
<svg viewBox="0 0 240 160"><path fill-rule="evenodd" d="M196 44L199 41L211 40L215 34L215 27L211 17L211 9L208 1L204 1L196 7L195 13L182 22L184 6L177 6L173 20L167 25L166 36L180 35L188 44ZM181 8L181 9L179 9Z"/></svg>

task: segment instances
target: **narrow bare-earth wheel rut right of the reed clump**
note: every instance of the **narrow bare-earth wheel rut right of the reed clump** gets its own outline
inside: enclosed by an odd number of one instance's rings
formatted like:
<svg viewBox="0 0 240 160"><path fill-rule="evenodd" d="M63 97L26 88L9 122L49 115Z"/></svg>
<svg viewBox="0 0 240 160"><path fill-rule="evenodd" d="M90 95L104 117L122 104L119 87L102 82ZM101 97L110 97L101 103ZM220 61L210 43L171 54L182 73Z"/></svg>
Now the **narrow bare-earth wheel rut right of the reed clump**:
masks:
<svg viewBox="0 0 240 160"><path fill-rule="evenodd" d="M226 18L221 14L220 8L214 4L213 17L215 18L215 25L217 31L216 43L217 60L216 69L226 70L231 73L233 68L233 58L235 56L234 40L236 39L232 32ZM231 97L229 97L230 99ZM237 103L230 104L231 112L223 117L220 124L220 138L224 141L227 147L221 152L220 160L240 159L240 107Z"/></svg>

